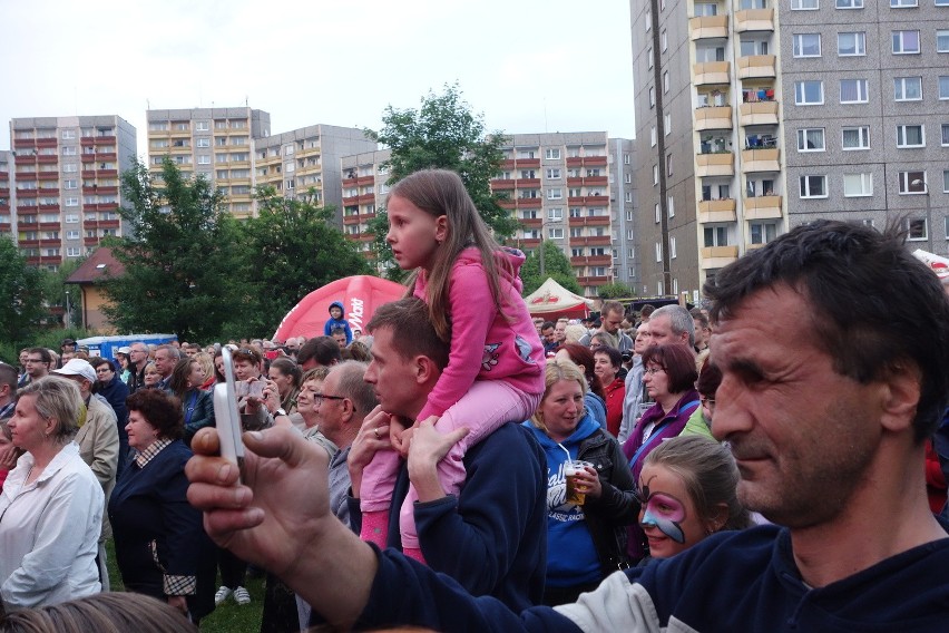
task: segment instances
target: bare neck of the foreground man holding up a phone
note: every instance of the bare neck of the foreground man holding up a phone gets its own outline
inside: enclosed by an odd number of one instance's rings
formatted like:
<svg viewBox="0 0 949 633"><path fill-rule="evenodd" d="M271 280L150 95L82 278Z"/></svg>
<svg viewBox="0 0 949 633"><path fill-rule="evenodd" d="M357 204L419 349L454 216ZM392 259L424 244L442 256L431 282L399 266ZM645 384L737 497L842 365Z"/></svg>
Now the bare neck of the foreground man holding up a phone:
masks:
<svg viewBox="0 0 949 633"><path fill-rule="evenodd" d="M812 587L826 586L926 543L949 537L932 516L926 497L922 448L906 459L903 473L875 460L867 480L832 520L792 528L794 562ZM890 481L874 474L892 474ZM872 479L872 480L870 480Z"/></svg>

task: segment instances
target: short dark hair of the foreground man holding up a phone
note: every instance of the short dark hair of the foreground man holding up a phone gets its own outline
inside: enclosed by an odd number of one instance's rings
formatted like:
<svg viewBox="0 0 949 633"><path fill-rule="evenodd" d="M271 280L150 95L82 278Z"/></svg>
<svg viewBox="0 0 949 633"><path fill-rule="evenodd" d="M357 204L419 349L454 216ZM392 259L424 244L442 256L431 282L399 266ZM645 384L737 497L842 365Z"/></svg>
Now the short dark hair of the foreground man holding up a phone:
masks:
<svg viewBox="0 0 949 633"><path fill-rule="evenodd" d="M896 225L816 221L795 227L705 283L712 321L730 319L755 292L786 285L810 304L816 342L833 368L860 383L920 372L916 440L932 434L949 400L949 299L906 249Z"/></svg>

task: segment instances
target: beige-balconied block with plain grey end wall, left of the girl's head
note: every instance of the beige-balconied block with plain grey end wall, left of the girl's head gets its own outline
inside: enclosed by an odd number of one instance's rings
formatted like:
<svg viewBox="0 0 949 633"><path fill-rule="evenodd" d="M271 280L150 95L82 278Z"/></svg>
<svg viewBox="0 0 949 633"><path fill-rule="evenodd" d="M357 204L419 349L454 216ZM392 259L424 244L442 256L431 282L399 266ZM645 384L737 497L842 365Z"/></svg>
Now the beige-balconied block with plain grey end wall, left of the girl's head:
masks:
<svg viewBox="0 0 949 633"><path fill-rule="evenodd" d="M276 134L256 142L255 184L271 185L285 196L315 194L314 202L335 208L336 224L344 226L342 160L372 153L374 140L362 129L333 125L313 125Z"/></svg>

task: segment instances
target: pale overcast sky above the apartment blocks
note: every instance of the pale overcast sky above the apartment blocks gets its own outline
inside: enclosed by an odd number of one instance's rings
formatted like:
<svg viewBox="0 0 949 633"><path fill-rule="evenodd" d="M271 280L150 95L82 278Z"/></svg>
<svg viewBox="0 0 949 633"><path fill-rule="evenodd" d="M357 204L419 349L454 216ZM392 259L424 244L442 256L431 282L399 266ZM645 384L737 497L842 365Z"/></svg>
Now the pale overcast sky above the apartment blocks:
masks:
<svg viewBox="0 0 949 633"><path fill-rule="evenodd" d="M250 105L271 132L379 129L458 82L487 132L633 138L626 0L0 0L11 118Z"/></svg>

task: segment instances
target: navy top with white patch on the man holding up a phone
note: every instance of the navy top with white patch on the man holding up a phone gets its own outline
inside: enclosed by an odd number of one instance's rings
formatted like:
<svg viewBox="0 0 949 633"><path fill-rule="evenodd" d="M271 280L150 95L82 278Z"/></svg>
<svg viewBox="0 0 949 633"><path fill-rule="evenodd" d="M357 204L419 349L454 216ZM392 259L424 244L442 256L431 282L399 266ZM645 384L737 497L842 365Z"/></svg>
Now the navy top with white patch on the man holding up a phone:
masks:
<svg viewBox="0 0 949 633"><path fill-rule="evenodd" d="M617 572L575 605L513 613L490 597L387 549L355 629L413 624L436 631L946 631L949 538L820 588L801 580L790 533L718 533L678 556ZM640 608L642 607L642 608ZM665 629L663 629L665 630Z"/></svg>

